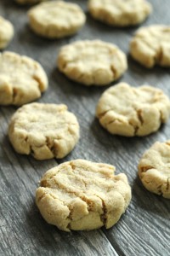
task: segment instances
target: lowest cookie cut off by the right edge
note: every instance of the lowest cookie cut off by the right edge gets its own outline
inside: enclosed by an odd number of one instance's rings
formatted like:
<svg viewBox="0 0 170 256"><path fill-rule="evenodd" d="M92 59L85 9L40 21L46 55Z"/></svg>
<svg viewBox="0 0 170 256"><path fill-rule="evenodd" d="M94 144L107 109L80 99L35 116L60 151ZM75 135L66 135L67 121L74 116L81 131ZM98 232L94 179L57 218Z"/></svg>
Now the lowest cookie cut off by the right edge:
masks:
<svg viewBox="0 0 170 256"><path fill-rule="evenodd" d="M139 177L150 192L170 199L170 141L157 142L144 153Z"/></svg>

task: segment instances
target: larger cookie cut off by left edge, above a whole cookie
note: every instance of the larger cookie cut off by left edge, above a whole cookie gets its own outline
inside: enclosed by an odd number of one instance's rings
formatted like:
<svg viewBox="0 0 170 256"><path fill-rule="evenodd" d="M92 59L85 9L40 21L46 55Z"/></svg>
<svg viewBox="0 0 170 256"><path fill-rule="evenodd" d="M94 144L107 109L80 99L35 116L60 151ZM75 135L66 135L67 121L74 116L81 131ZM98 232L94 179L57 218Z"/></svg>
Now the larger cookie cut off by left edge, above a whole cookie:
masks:
<svg viewBox="0 0 170 256"><path fill-rule="evenodd" d="M37 61L14 52L0 53L0 105L34 101L47 88L48 78Z"/></svg>

